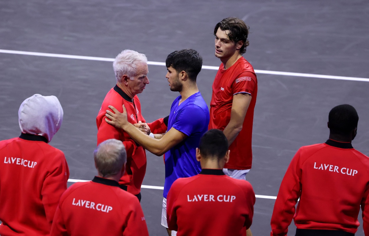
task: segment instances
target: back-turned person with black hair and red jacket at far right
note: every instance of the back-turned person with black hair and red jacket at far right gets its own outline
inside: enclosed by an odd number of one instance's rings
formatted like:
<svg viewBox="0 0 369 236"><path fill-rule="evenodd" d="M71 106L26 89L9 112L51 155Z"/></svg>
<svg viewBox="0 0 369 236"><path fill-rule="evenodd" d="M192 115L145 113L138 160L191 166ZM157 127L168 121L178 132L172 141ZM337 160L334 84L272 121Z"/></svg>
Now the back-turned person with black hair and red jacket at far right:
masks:
<svg viewBox="0 0 369 236"><path fill-rule="evenodd" d="M353 236L360 206L369 235L369 158L351 145L358 120L351 105L332 108L327 142L297 151L279 188L271 236L287 235L292 219L296 236Z"/></svg>

